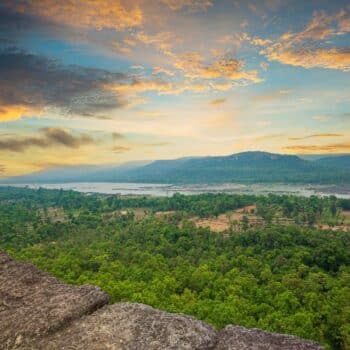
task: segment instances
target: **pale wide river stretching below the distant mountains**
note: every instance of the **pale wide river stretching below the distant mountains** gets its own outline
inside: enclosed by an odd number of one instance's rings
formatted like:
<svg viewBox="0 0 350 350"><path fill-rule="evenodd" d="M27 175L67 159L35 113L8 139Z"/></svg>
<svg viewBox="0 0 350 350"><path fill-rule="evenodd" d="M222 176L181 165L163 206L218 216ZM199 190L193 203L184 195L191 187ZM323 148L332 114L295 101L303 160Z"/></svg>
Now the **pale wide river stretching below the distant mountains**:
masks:
<svg viewBox="0 0 350 350"><path fill-rule="evenodd" d="M121 195L172 196L174 193L186 195L199 193L239 193L239 194L293 194L297 196L335 195L339 198L350 198L349 187L324 185L284 185L284 184L142 184L142 183L111 183L111 182L81 182L81 183L50 183L9 185L29 188L47 188L74 190L83 193L105 193Z"/></svg>

